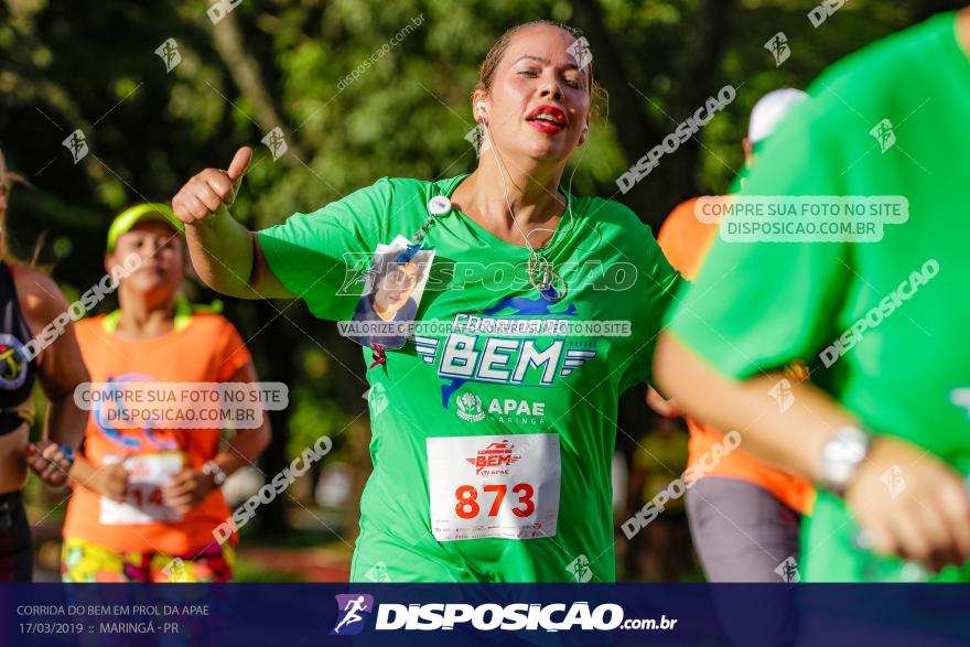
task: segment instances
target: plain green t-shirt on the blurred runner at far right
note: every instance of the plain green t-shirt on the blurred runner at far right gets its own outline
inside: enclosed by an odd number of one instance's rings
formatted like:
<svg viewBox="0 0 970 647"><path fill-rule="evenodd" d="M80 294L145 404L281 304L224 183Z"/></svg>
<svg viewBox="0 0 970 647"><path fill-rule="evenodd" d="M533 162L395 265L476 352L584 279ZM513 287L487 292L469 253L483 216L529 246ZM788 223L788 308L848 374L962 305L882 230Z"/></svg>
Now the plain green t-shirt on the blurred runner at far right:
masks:
<svg viewBox="0 0 970 647"><path fill-rule="evenodd" d="M903 196L908 220L884 225L876 242L720 239L671 309L670 330L734 378L813 363L812 381L867 428L970 473L970 62L955 14L866 47L809 94L742 195ZM856 536L844 504L820 493L804 533L802 576L927 576L858 550ZM949 569L936 579L968 575Z"/></svg>

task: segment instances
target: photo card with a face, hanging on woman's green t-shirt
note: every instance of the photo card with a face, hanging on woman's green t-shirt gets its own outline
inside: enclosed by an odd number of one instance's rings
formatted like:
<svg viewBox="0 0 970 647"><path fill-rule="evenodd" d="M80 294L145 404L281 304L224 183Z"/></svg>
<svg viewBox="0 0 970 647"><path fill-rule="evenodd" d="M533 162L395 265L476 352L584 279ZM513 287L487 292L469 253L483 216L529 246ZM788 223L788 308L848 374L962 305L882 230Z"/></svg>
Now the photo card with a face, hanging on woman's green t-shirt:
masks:
<svg viewBox="0 0 970 647"><path fill-rule="evenodd" d="M378 245L370 260L364 290L351 321L341 322L341 334L362 346L400 348L407 343L428 282L433 249L406 254L409 241L397 236Z"/></svg>

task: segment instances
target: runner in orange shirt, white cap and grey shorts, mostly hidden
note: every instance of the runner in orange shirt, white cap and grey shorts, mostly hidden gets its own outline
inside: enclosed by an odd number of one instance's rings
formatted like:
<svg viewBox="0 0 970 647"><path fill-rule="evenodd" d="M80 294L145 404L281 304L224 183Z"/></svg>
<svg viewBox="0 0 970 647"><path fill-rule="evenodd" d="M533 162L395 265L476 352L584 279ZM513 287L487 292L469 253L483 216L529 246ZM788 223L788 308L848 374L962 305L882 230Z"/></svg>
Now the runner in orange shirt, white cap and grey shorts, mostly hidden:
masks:
<svg viewBox="0 0 970 647"><path fill-rule="evenodd" d="M745 166L751 168L757 150L785 114L808 98L800 90L785 88L768 93L751 115L744 139ZM718 225L702 222L694 213L699 198L678 205L664 222L657 242L667 260L687 280L693 280L718 236ZM720 200L730 201L730 196ZM786 369L789 379L806 379L804 365ZM676 405L648 393L648 403L671 416ZM687 419L690 430L689 464L710 454L723 434L698 420ZM691 474L697 472L691 471ZM724 455L714 467L697 478L687 493L691 538L704 573L711 582L777 582L777 569L798 556L799 526L811 510L815 492L800 479L762 463L739 449ZM783 571L784 572L784 571Z"/></svg>

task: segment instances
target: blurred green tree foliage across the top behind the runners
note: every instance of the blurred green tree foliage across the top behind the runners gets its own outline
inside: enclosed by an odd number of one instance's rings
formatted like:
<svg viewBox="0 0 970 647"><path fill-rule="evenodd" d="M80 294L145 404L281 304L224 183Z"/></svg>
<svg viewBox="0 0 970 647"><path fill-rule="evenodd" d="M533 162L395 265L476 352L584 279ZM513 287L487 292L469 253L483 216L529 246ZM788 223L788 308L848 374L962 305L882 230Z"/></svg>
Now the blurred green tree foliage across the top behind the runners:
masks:
<svg viewBox="0 0 970 647"><path fill-rule="evenodd" d="M214 31L226 25L213 26L208 4L8 6L9 20L0 21L0 145L36 186L15 192L11 228L28 241L50 228L79 242L56 255L58 277L94 280L100 233L114 213L173 195L200 169L225 165L244 143L255 147L257 159L235 213L252 227L312 211L382 175L472 170L475 158L463 138L474 126L468 95L485 52L518 22L574 18L574 3L563 0L244 2L225 22L238 29L255 82L279 119L268 123L233 74L238 62L227 61L215 43ZM644 120L664 132L690 108L679 105L692 82L681 73L703 45L696 26L705 3L595 4L628 82L649 97L637 98ZM697 188L726 187L758 96L807 85L824 65L903 26L913 13L858 0L816 30L806 18L815 4L747 0L735 11L720 75L744 85L737 105L703 133ZM422 22L414 25L416 19ZM763 43L783 30L795 55L775 68ZM380 55L396 34L403 34L400 42ZM169 37L182 61L165 73L154 48ZM365 62L359 78L342 86ZM612 195L613 180L634 160L624 159L607 110L594 125L575 186ZM276 126L303 159L271 161L259 140ZM74 128L85 131L96 155L77 165L61 147ZM654 143L643 142L644 152ZM78 217L75 209L89 213Z"/></svg>

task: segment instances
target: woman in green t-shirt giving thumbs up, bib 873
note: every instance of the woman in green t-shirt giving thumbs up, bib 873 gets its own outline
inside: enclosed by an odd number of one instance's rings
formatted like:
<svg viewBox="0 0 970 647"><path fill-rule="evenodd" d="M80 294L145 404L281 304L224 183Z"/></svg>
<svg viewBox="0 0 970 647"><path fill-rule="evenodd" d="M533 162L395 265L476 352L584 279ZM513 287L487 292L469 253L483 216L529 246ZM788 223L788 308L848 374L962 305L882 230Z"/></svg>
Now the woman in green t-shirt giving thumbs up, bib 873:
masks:
<svg viewBox="0 0 970 647"><path fill-rule="evenodd" d="M203 281L300 298L320 319L353 316L351 258L399 236L395 262L435 254L412 293L421 331L364 351L374 472L354 580L615 579L618 398L649 380L678 274L633 212L561 186L589 132L584 45L549 22L495 43L472 95L482 145L470 175L384 177L255 234L226 212L244 148L172 201Z"/></svg>

